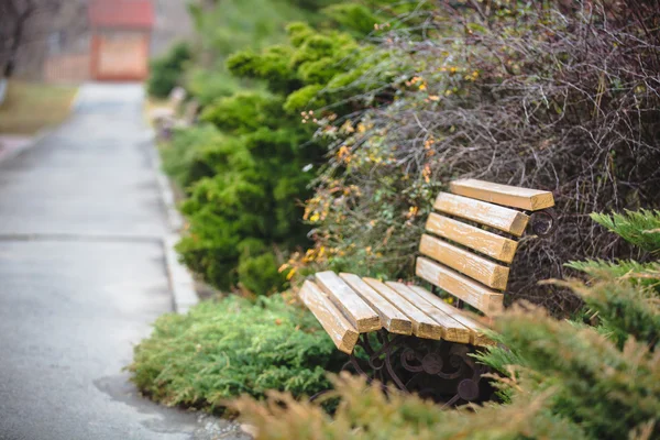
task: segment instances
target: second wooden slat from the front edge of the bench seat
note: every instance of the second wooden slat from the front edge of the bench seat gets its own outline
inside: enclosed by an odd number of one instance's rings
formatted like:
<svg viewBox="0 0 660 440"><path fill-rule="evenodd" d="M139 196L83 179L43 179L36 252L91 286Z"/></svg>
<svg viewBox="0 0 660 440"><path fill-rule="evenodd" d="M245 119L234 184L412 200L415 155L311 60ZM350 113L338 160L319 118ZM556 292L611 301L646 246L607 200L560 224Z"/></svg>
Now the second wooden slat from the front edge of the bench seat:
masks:
<svg viewBox="0 0 660 440"><path fill-rule="evenodd" d="M381 329L381 318L353 289L334 272L319 272L315 275L318 286L343 312L344 317L360 333Z"/></svg>

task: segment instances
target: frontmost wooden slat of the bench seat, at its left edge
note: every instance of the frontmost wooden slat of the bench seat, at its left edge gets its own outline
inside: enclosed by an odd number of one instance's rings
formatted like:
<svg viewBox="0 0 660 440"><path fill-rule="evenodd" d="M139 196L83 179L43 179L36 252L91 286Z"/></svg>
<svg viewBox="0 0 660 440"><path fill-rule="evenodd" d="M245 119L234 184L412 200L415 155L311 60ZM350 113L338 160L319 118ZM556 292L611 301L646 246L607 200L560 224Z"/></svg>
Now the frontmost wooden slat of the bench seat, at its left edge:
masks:
<svg viewBox="0 0 660 440"><path fill-rule="evenodd" d="M321 289L310 280L306 280L298 294L305 306L319 320L326 332L340 351L351 354L358 343L360 333Z"/></svg>

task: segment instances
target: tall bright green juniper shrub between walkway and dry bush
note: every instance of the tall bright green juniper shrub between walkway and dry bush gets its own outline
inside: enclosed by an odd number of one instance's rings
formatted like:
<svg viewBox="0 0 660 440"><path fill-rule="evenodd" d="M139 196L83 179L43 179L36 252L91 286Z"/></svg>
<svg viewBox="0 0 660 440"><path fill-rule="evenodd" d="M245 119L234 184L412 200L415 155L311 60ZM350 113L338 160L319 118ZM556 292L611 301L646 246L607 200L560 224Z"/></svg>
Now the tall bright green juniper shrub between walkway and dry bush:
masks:
<svg viewBox="0 0 660 440"><path fill-rule="evenodd" d="M288 44L238 52L228 59L237 77L262 81L266 89L216 100L200 119L215 128L205 131L217 134L194 140L202 129L184 132L195 144L190 151L173 150L173 156L180 154L179 180L188 194L182 204L188 234L178 251L190 268L221 289L241 285L270 294L286 286L276 272L288 252L309 244L301 205L327 151L324 140L314 139L314 112L305 109L355 92L343 87L317 95L371 53L346 33L317 32L301 23L287 32ZM246 242L258 242L263 252L245 252Z"/></svg>

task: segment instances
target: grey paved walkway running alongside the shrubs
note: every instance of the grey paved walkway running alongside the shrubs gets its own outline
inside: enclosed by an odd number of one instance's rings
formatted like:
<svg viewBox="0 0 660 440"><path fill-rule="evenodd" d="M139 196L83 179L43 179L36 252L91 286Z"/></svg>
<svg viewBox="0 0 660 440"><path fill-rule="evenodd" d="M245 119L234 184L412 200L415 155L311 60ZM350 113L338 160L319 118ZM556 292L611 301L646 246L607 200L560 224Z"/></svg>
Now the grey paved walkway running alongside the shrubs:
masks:
<svg viewBox="0 0 660 440"><path fill-rule="evenodd" d="M237 439L156 406L122 367L173 307L139 86L88 85L78 109L0 164L0 439Z"/></svg>

